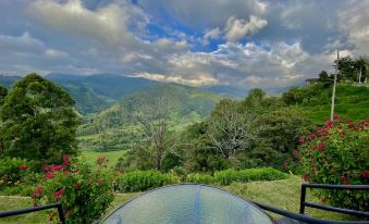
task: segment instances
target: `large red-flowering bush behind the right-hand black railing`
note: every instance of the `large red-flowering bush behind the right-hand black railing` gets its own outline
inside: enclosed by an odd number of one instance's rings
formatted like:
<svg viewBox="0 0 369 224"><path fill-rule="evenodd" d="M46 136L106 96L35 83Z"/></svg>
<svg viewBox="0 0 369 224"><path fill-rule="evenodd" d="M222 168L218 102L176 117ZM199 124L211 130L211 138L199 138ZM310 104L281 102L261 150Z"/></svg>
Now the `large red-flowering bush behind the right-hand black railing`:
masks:
<svg viewBox="0 0 369 224"><path fill-rule="evenodd" d="M334 116L307 137L295 153L306 182L337 185L369 184L369 120L354 123ZM290 162L290 161L288 161ZM365 191L323 190L320 197L331 204L368 211Z"/></svg>

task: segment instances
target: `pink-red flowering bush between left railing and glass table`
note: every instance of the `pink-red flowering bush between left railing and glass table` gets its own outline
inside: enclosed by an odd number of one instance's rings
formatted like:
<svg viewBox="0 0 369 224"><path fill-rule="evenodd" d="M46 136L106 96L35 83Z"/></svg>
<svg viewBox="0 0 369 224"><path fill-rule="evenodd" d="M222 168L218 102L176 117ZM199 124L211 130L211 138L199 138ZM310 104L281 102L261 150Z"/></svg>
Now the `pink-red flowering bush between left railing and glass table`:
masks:
<svg viewBox="0 0 369 224"><path fill-rule="evenodd" d="M70 223L91 223L113 200L112 173L104 163L95 169L63 157L62 165L44 165L40 186L32 194L35 204L61 201ZM50 213L50 220L57 213Z"/></svg>

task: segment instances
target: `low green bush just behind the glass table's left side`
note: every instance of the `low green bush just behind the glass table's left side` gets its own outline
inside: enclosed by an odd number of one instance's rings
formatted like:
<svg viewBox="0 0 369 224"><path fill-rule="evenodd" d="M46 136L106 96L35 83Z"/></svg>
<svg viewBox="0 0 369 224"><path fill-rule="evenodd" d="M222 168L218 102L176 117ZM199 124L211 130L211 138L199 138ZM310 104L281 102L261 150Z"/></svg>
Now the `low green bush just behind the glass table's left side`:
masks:
<svg viewBox="0 0 369 224"><path fill-rule="evenodd" d="M122 192L136 192L179 182L177 176L159 171L134 171L121 174L116 179L115 189Z"/></svg>

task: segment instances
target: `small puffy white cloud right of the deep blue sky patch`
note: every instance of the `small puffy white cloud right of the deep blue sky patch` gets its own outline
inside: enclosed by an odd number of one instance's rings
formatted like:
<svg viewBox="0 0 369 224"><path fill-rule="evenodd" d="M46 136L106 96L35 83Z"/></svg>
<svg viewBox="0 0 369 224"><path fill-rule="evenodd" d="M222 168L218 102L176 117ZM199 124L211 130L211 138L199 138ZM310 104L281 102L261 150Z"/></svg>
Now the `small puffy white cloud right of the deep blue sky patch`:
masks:
<svg viewBox="0 0 369 224"><path fill-rule="evenodd" d="M249 21L230 17L225 24L225 37L235 42L247 35L253 35L267 26L268 22L258 16L250 15Z"/></svg>

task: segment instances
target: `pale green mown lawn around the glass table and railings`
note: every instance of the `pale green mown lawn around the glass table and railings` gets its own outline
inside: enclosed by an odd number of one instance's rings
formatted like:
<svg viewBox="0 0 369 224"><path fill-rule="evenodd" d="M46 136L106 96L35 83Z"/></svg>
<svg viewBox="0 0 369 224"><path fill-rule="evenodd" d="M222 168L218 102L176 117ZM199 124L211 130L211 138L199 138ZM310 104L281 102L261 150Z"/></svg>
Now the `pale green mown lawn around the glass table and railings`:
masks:
<svg viewBox="0 0 369 224"><path fill-rule="evenodd" d="M273 182L251 182L251 183L233 183L230 186L223 187L224 189L238 195L242 198L255 200L265 204L270 204L281 209L293 212L298 212L299 209L299 185L300 177L293 176L288 179L273 181ZM123 202L137 197L139 194L122 194L116 195L113 203L108 209L110 213L118 206ZM307 201L318 202L319 200L311 194L307 195ZM30 207L29 198L12 198L0 196L0 211L22 209ZM348 215L335 214L315 209L306 209L310 216L331 219L331 220L350 220ZM273 215L273 214L272 214ZM273 215L276 216L276 215ZM16 217L0 219L2 223L49 223L47 212L38 212L33 214L20 215Z"/></svg>

